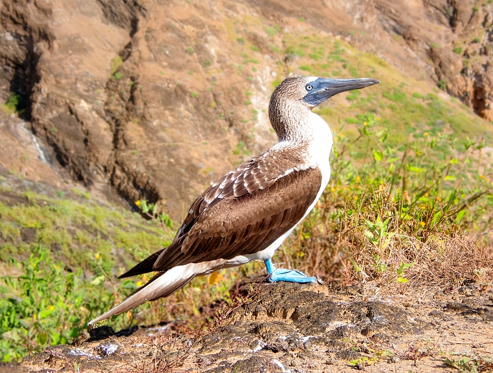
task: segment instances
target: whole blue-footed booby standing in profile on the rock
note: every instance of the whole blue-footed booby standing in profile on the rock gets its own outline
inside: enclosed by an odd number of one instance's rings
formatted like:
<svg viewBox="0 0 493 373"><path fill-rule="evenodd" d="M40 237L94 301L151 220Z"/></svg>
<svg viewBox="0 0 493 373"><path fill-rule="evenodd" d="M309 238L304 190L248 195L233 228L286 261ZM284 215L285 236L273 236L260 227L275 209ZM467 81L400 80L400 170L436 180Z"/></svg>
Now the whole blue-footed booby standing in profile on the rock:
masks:
<svg viewBox="0 0 493 373"><path fill-rule="evenodd" d="M376 83L370 78L284 79L269 102L278 142L202 193L172 243L119 277L155 272L151 279L89 325L167 297L195 276L254 260L264 261L270 281L316 282L272 263L276 249L313 209L330 178L332 132L312 109L338 93Z"/></svg>

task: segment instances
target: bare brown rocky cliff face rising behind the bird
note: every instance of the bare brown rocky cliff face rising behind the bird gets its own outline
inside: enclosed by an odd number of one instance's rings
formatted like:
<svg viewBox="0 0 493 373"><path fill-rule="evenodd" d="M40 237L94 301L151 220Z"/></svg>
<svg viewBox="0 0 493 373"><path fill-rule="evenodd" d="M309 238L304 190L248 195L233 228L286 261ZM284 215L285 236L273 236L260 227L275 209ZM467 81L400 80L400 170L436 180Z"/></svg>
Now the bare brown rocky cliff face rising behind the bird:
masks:
<svg viewBox="0 0 493 373"><path fill-rule="evenodd" d="M493 120L492 14L472 0L5 0L0 98L18 95L74 179L179 219L180 201L276 141L274 84L307 74L287 35L340 36Z"/></svg>

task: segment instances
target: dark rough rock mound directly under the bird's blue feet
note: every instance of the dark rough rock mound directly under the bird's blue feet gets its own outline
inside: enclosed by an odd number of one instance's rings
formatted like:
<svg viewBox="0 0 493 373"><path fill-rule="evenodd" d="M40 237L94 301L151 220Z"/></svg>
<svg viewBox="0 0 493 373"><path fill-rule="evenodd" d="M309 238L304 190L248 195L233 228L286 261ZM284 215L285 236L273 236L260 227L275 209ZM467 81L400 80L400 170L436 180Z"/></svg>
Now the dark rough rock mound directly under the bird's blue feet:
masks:
<svg viewBox="0 0 493 373"><path fill-rule="evenodd" d="M349 358L359 356L347 343L357 336L389 341L397 334L423 334L426 327L423 322L410 322L410 315L398 307L378 302L345 304L323 291L323 286L295 283L262 286L253 302L230 314L237 321L206 336L198 353L216 361L239 356L247 346L255 352L302 349L309 357L316 350L312 347L323 346Z"/></svg>

